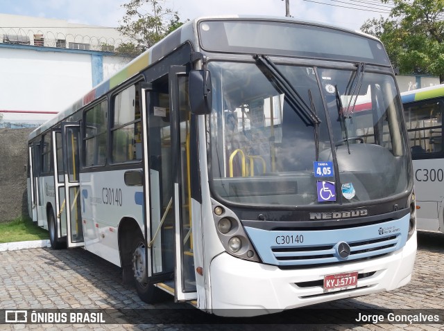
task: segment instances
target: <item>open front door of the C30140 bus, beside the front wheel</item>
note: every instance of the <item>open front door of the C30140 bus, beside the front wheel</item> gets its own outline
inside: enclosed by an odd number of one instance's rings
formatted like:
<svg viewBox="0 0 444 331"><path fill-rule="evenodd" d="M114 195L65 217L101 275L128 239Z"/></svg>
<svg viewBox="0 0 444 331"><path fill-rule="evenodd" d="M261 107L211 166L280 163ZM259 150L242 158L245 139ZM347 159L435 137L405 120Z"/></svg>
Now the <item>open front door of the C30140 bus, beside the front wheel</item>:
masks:
<svg viewBox="0 0 444 331"><path fill-rule="evenodd" d="M196 299L189 195L189 111L181 111L183 66L171 66L169 86L142 86L144 105L146 263L148 282L174 294L176 301ZM183 80L183 81L182 81ZM186 93L181 93L185 96Z"/></svg>

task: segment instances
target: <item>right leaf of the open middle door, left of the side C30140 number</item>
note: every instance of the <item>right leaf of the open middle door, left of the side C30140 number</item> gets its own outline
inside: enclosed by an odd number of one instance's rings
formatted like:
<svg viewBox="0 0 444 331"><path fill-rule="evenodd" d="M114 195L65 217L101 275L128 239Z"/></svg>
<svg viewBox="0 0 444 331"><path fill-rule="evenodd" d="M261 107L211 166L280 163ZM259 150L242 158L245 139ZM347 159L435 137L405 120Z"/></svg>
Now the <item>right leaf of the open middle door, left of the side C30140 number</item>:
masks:
<svg viewBox="0 0 444 331"><path fill-rule="evenodd" d="M80 141L79 123L62 123L65 199L62 202L62 206L60 206L60 210L62 212L66 211L68 247L81 247L85 245L83 240L83 226L80 208L81 196L78 178Z"/></svg>

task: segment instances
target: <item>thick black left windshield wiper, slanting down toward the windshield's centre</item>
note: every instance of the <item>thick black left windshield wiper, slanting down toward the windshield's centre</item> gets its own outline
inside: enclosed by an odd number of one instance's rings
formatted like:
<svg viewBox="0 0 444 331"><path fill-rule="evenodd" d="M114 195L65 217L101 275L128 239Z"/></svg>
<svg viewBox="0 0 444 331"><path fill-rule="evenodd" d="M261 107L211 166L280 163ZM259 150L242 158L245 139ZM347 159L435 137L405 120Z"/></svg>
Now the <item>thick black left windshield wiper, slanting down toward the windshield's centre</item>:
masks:
<svg viewBox="0 0 444 331"><path fill-rule="evenodd" d="M310 107L305 103L304 99L301 98L300 94L291 83L285 78L285 76L280 72L278 67L270 60L266 55L254 55L253 56L257 64L262 65L268 73L271 73L273 82L278 85L278 88L285 94L287 101L293 107L293 109L298 109L300 117L304 121L305 125L318 125L321 123L318 115L310 109Z"/></svg>

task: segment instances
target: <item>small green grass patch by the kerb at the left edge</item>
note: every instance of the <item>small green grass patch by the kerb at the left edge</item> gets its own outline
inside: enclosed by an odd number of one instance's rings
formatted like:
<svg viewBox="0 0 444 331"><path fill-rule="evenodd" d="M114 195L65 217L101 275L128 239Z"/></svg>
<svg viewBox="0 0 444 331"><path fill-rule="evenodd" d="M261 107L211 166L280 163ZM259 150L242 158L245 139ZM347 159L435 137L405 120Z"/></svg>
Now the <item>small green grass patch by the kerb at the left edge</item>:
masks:
<svg viewBox="0 0 444 331"><path fill-rule="evenodd" d="M29 217L20 216L10 222L0 223L0 244L44 239L49 239L49 232L34 224Z"/></svg>

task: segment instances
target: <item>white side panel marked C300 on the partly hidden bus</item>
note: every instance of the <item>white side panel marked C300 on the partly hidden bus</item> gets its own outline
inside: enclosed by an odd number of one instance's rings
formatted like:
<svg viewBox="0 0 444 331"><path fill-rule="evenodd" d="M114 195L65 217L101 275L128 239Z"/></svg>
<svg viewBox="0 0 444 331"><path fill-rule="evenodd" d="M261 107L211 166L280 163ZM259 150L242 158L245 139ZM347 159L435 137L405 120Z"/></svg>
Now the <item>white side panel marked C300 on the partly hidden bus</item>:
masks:
<svg viewBox="0 0 444 331"><path fill-rule="evenodd" d="M413 160L416 228L444 231L444 159Z"/></svg>

